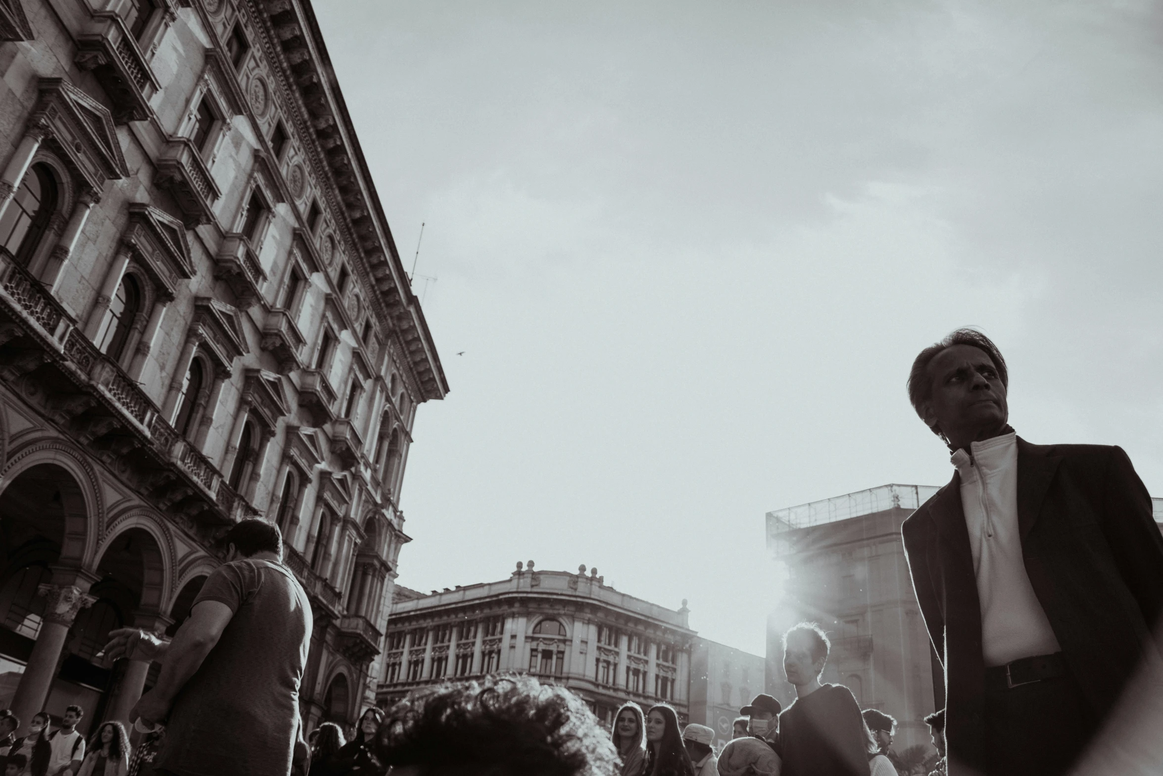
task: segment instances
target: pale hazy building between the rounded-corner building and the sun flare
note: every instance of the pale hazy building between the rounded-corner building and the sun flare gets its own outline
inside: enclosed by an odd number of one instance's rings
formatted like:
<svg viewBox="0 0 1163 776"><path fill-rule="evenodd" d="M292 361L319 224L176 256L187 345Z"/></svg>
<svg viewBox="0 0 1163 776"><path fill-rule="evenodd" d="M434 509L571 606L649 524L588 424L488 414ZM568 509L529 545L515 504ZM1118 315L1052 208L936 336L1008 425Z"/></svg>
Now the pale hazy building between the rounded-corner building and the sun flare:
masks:
<svg viewBox="0 0 1163 776"><path fill-rule="evenodd" d="M692 722L715 732L714 748L721 750L732 736L739 710L766 692L766 661L742 649L697 638L691 647Z"/></svg>

